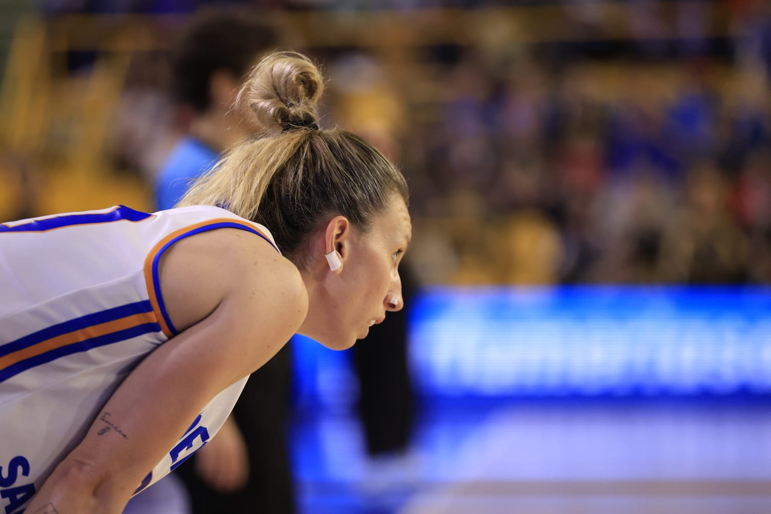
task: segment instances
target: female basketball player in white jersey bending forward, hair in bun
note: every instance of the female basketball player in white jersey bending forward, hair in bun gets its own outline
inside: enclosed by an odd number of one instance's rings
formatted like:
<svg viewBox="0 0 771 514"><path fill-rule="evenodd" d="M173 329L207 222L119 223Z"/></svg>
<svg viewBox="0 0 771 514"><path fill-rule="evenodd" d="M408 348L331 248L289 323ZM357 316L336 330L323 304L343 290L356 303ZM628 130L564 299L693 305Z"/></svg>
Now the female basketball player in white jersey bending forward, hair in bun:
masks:
<svg viewBox="0 0 771 514"><path fill-rule="evenodd" d="M264 59L239 101L270 133L176 209L0 225L5 512L121 512L214 436L292 334L348 348L402 308L405 180L318 128L322 89L305 57Z"/></svg>

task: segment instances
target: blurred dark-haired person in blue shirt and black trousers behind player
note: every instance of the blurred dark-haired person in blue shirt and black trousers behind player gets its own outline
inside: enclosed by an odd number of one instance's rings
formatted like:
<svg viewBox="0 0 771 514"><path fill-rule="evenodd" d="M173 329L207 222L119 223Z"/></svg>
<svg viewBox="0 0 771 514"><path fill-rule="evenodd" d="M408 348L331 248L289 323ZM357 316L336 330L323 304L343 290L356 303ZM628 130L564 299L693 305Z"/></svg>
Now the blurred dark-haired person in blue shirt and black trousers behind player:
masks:
<svg viewBox="0 0 771 514"><path fill-rule="evenodd" d="M170 209L190 183L261 126L234 107L259 56L277 41L254 11L204 10L172 52L172 94L184 136L157 174L155 200ZM206 448L181 466L194 514L295 512L288 459L291 348L285 345L247 381L231 419Z"/></svg>

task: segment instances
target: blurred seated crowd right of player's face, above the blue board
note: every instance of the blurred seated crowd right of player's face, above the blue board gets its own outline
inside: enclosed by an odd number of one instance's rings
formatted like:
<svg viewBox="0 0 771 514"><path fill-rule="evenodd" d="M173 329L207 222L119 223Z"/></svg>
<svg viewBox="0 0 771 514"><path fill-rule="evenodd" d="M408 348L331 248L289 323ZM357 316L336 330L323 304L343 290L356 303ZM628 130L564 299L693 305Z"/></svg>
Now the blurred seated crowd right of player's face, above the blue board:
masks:
<svg viewBox="0 0 771 514"><path fill-rule="evenodd" d="M766 77L721 77L702 60L615 66L551 69L533 56L490 67L467 52L443 67L444 94L410 106L402 133L412 210L436 221L416 238L433 246L424 274L463 284L771 279Z"/></svg>

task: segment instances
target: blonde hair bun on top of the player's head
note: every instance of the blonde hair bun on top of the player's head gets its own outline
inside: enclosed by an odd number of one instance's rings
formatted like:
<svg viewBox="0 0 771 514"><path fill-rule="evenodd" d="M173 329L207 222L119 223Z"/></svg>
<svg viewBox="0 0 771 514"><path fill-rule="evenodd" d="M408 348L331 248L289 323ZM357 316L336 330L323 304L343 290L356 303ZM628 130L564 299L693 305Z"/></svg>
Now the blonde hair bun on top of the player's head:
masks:
<svg viewBox="0 0 771 514"><path fill-rule="evenodd" d="M318 68L305 55L275 52L260 61L238 93L265 129L318 129L316 104L324 91Z"/></svg>

